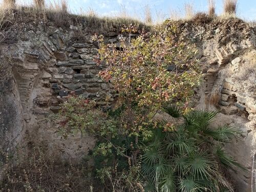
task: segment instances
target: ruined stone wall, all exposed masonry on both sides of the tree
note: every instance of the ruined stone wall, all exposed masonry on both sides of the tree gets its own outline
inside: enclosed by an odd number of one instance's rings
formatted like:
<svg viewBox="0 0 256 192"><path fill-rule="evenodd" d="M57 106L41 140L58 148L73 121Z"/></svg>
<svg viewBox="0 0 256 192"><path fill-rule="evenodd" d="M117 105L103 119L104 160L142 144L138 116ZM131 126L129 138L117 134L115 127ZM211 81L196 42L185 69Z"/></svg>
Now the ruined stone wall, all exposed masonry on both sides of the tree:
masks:
<svg viewBox="0 0 256 192"><path fill-rule="evenodd" d="M230 175L239 191L250 191L251 152L256 149L256 29L236 19L179 25L183 40L195 42L199 50L195 59L204 77L195 89L195 107L219 110L216 126L228 123L243 132L226 147L249 170L230 170ZM112 85L97 76L105 68L94 60L98 45L92 34L74 26L21 26L17 41L0 45L1 149L11 152L18 144L29 147L41 142L62 160L79 160L93 147L94 138L77 134L63 140L47 117L71 92L102 105L114 99ZM106 36L106 42L123 38L113 32Z"/></svg>

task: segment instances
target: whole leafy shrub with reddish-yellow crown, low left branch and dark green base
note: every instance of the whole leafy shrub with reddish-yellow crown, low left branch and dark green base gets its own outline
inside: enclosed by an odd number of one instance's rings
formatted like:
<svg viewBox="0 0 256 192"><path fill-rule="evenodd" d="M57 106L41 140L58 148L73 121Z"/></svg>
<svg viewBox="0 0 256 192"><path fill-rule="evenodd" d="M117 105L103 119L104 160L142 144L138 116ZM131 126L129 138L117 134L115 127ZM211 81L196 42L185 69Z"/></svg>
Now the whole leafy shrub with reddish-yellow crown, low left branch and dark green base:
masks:
<svg viewBox="0 0 256 192"><path fill-rule="evenodd" d="M152 136L153 118L161 103L173 100L186 110L188 106L184 103L200 82L195 62L188 61L197 51L195 46L180 41L172 23L166 22L159 31L152 35L142 32L132 39L137 30L128 26L123 33L129 35L129 40L121 40L118 47L104 45L102 36L94 36L100 45L100 60L96 61L108 66L99 75L114 84L118 93L116 105L103 113L94 109L94 101L75 96L63 103L58 114L63 137L78 131L98 138L92 152L98 173L112 166L116 177L139 170L142 141ZM167 71L169 65L176 70ZM132 186L140 183L139 175L134 171L129 176ZM108 178L105 183L109 183Z"/></svg>

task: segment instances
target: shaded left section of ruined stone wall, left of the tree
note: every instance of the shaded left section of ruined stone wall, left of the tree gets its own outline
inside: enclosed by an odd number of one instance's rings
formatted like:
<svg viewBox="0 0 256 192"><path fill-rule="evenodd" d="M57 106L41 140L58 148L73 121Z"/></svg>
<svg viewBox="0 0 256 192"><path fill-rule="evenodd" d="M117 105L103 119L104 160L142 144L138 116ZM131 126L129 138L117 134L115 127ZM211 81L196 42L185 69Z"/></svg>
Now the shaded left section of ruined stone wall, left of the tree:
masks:
<svg viewBox="0 0 256 192"><path fill-rule="evenodd" d="M90 135L61 139L48 118L70 94L99 105L113 101L112 85L97 76L105 68L95 62L98 44L92 34L71 28L24 25L16 42L1 45L2 72L9 73L0 83L2 151L42 142L62 160L79 160L94 145ZM116 33L105 39L118 41Z"/></svg>

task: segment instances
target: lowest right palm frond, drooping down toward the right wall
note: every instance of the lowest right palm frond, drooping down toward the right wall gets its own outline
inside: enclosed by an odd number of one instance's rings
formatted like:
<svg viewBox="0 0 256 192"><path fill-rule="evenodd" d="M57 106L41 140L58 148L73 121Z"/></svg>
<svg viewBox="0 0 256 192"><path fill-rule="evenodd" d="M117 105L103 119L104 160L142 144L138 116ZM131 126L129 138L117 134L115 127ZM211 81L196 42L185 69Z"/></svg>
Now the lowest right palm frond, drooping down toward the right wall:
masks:
<svg viewBox="0 0 256 192"><path fill-rule="evenodd" d="M234 160L231 156L227 155L221 145L217 145L215 155L218 157L219 161L224 167L231 168L234 171L236 167L239 167L245 170L246 172L248 172L245 166L241 165L236 160Z"/></svg>

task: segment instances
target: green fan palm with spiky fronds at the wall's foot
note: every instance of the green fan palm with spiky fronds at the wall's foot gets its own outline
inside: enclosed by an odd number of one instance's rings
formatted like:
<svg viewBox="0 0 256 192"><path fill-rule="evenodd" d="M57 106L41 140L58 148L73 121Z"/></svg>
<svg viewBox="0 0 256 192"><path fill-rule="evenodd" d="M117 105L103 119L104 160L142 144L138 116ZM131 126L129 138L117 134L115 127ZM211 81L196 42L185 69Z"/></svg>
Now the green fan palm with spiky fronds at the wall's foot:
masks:
<svg viewBox="0 0 256 192"><path fill-rule="evenodd" d="M165 104L163 109L174 118L182 117L175 105ZM142 155L145 191L233 191L223 171L245 168L222 146L240 131L228 125L212 127L216 115L191 111L183 115L184 123L158 122Z"/></svg>

